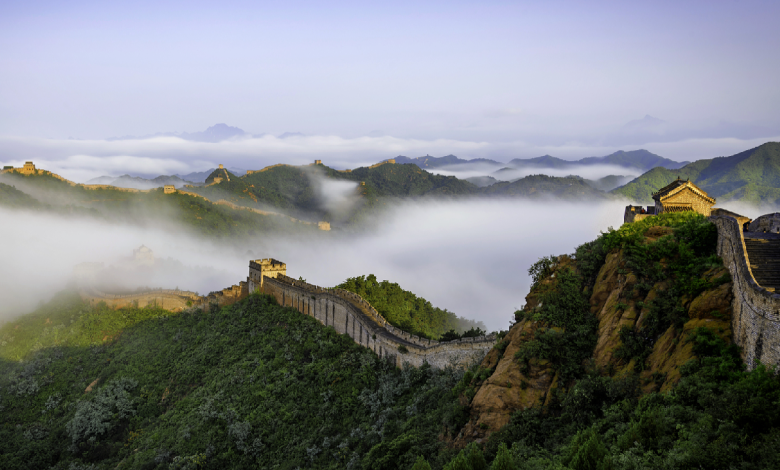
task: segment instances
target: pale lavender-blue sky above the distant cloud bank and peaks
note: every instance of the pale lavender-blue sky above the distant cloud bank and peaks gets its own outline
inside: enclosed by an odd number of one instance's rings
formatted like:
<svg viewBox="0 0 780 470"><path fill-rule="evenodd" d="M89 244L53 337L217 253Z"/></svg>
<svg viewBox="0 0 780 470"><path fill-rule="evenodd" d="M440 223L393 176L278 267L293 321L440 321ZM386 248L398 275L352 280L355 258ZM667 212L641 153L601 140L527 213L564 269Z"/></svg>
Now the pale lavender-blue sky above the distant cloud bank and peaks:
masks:
<svg viewBox="0 0 780 470"><path fill-rule="evenodd" d="M777 1L5 1L0 160L43 145L24 139L216 123L386 138L364 142L372 159L729 155L780 136L778 17ZM645 116L663 122L629 124ZM127 156L91 148L56 158Z"/></svg>

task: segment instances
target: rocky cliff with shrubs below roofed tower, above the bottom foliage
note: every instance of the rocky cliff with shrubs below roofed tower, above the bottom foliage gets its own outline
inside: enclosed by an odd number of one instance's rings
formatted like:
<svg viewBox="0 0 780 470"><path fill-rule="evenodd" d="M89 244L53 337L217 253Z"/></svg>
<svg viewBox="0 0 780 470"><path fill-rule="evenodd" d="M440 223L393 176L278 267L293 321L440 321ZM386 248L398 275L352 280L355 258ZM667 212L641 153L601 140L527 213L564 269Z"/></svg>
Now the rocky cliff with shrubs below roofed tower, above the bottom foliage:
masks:
<svg viewBox="0 0 780 470"><path fill-rule="evenodd" d="M653 219L604 234L576 257L537 263L516 323L469 377L461 402L470 420L457 447L483 442L518 410L561 400L578 375L634 374L642 393L668 391L694 357L694 332L730 340L732 286L713 255L712 228L701 219L693 230L690 220ZM595 265L585 256L593 252ZM575 289L581 299L571 297ZM589 305L578 307L581 316L561 320L562 307L582 299Z"/></svg>

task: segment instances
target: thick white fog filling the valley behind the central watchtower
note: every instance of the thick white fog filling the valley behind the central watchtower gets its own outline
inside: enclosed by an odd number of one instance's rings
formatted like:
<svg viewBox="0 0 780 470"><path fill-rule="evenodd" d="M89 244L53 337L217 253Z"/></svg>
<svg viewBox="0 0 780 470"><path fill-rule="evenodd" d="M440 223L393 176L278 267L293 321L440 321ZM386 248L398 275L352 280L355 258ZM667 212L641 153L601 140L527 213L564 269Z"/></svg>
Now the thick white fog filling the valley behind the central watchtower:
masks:
<svg viewBox="0 0 780 470"><path fill-rule="evenodd" d="M320 232L311 239L266 237L246 244L2 209L0 321L47 301L82 262L103 262L111 277L127 280L126 288L178 287L205 294L246 280L250 257L274 257L287 263L288 275L320 286L373 273L438 307L482 320L490 330L505 329L525 302L528 267L542 256L571 253L599 231L618 227L624 206L522 200L401 203L382 216L371 234ZM764 213L739 209L752 217ZM133 249L142 244L153 250L156 269L128 269Z"/></svg>

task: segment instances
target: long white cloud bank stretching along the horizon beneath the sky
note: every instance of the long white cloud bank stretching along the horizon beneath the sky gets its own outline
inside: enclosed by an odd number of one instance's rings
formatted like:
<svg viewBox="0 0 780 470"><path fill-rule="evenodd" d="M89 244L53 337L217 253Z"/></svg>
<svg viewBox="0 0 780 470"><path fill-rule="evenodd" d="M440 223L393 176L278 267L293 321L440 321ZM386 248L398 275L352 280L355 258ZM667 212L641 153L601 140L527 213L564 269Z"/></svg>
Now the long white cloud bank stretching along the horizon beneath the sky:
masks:
<svg viewBox="0 0 780 470"><path fill-rule="evenodd" d="M733 155L769 140L780 140L780 136L772 139L712 138L650 142L641 148L673 160L693 161ZM264 135L233 138L219 143L193 142L177 137L111 141L0 137L0 164L21 166L24 161L32 160L39 168L54 171L76 182L85 182L98 176L122 174L146 177L185 174L214 168L219 163L260 169L276 163L301 165L319 159L330 167L345 169L370 165L398 155L415 157L426 154L454 154L466 159L491 158L508 162L513 158L545 154L564 159L579 159L635 148L639 147L582 143L549 146L532 145L523 141L422 140L392 136L345 138L297 135L279 138ZM570 173L571 171L567 171L567 174ZM624 173L625 171L611 174Z"/></svg>

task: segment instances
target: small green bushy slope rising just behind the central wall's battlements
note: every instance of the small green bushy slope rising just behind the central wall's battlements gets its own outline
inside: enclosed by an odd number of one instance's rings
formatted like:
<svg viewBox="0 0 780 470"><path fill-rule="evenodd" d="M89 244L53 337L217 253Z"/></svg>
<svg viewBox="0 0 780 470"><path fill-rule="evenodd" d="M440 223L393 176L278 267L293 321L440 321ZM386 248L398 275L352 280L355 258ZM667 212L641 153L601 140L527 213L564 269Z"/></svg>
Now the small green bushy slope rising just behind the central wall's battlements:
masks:
<svg viewBox="0 0 780 470"><path fill-rule="evenodd" d="M360 295L391 325L418 336L451 341L461 337L461 333L467 336L485 333L482 322L460 318L447 309L434 307L394 282L377 281L373 274L348 278L336 287Z"/></svg>

